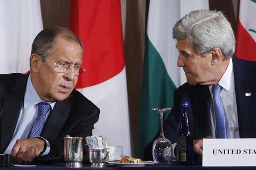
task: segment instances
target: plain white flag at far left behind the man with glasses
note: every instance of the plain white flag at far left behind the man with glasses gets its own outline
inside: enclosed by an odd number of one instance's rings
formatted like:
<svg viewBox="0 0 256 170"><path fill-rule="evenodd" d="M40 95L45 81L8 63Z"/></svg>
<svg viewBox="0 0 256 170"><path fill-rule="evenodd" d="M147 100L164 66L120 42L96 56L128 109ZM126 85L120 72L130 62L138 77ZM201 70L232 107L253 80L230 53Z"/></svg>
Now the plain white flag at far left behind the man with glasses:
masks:
<svg viewBox="0 0 256 170"><path fill-rule="evenodd" d="M29 70L31 45L42 30L39 0L0 0L0 74Z"/></svg>

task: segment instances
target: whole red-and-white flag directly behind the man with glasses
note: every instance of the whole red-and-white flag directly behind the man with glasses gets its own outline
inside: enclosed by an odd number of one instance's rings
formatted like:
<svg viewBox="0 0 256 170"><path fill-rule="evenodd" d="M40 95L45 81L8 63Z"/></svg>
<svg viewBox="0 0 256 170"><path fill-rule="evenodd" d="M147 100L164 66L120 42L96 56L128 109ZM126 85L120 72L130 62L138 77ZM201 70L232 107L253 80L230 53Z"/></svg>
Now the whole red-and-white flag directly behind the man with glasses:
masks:
<svg viewBox="0 0 256 170"><path fill-rule="evenodd" d="M81 39L84 54L76 89L100 109L93 135L107 137L130 155L126 73L120 0L71 0L70 29Z"/></svg>

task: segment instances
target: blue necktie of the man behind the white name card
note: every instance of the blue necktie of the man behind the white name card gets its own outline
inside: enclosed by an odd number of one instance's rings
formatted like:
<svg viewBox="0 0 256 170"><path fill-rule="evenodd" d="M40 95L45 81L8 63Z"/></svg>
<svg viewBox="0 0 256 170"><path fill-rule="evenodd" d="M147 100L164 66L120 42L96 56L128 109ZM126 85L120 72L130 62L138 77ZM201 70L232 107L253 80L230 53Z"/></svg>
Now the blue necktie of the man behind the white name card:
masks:
<svg viewBox="0 0 256 170"><path fill-rule="evenodd" d="M216 122L216 138L226 138L225 113L222 100L219 96L222 87L220 85L212 85L213 105L215 111Z"/></svg>

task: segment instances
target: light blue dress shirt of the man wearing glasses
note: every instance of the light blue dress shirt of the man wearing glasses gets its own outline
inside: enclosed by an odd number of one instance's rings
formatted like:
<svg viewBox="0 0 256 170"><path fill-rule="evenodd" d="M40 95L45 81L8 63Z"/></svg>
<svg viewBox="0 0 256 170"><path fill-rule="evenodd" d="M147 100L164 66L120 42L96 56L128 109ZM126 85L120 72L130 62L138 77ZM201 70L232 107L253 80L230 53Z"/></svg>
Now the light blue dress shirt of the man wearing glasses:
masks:
<svg viewBox="0 0 256 170"><path fill-rule="evenodd" d="M25 89L24 102L22 104L22 107L18 116L18 121L14 130L14 133L12 135L11 141L7 149L4 151L4 154L11 153L11 149L15 145L16 140L27 139L28 134L31 131L33 121L37 117L37 110L38 110L37 104L40 102L44 102L44 101L40 98L40 96L35 91L31 82L30 74L29 74L27 79L26 89ZM54 103L47 102L47 103L49 103L52 110L55 105L55 102ZM46 114L44 122L46 121L49 113L50 111L48 111L48 113ZM46 141L46 150L40 156L47 155L49 153L49 150L50 150L49 142Z"/></svg>

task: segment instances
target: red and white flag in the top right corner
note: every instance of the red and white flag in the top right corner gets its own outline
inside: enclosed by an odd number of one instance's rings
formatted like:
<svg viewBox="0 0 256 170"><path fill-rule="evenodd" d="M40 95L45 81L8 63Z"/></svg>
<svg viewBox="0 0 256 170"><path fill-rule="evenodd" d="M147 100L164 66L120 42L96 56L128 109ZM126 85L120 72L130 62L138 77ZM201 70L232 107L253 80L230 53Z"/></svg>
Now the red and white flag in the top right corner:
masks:
<svg viewBox="0 0 256 170"><path fill-rule="evenodd" d="M256 61L256 0L240 0L235 56Z"/></svg>

